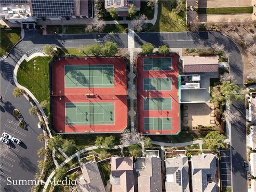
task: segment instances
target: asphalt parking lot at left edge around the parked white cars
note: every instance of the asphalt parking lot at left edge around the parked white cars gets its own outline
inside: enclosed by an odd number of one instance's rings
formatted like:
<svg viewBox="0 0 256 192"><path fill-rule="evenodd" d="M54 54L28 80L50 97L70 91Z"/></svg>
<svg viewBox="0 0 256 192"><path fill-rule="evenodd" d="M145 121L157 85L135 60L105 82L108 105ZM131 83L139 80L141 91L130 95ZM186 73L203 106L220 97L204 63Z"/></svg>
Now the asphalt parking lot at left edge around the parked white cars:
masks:
<svg viewBox="0 0 256 192"><path fill-rule="evenodd" d="M14 98L12 91L15 87L13 81L13 69L15 66L14 60L17 55L11 54L9 58L1 61L1 95L3 100L1 102L1 135L7 132L22 141L21 145L10 144L10 149L3 143L0 143L0 191L30 191L30 186L7 186L7 177L12 180L28 180L34 179L35 173L39 172L37 167L37 149L44 146L37 140L39 134L42 133L38 129L38 118L30 116L28 109L31 108L30 103L23 96ZM23 130L17 126L18 121L12 115L13 109L20 110L25 122L27 130Z"/></svg>

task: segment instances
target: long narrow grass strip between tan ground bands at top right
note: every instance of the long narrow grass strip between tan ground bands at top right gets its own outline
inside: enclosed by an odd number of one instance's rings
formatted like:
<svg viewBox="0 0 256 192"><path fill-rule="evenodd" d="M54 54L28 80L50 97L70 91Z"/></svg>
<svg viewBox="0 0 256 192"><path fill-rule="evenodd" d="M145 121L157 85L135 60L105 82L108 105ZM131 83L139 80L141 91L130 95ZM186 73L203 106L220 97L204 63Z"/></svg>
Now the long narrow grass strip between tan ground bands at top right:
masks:
<svg viewBox="0 0 256 192"><path fill-rule="evenodd" d="M251 14L253 6L198 8L198 14Z"/></svg>

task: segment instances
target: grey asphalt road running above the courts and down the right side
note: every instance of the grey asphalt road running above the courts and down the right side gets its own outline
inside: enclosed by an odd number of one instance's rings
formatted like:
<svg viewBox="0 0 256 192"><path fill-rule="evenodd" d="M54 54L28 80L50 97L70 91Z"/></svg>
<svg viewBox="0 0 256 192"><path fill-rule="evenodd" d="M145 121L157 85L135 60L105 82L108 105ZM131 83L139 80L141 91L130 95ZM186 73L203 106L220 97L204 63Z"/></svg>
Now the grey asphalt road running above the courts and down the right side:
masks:
<svg viewBox="0 0 256 192"><path fill-rule="evenodd" d="M84 35L38 35L35 31L27 31L24 41L19 43L12 51L10 58L18 61L27 51L35 47L43 47L44 44L58 44L60 47L78 47L92 43L104 43L113 41L119 47L127 47L127 34L84 34ZM236 44L227 36L217 32L184 32L184 33L140 33L135 34L135 47L144 43L152 43L154 46L167 44L172 48L196 48L210 47L215 43L224 45L228 53L230 72L234 75L239 86L243 86L243 61L242 55ZM13 63L12 63L13 66ZM2 69L1 69L2 75ZM2 78L2 77L1 77ZM2 82L1 82L2 83ZM2 87L1 87L2 91ZM246 134L245 134L245 106L244 101L234 102L231 110L241 114L239 123L231 124L231 162L233 175L233 191L247 191L247 176L243 169L243 161L246 159Z"/></svg>

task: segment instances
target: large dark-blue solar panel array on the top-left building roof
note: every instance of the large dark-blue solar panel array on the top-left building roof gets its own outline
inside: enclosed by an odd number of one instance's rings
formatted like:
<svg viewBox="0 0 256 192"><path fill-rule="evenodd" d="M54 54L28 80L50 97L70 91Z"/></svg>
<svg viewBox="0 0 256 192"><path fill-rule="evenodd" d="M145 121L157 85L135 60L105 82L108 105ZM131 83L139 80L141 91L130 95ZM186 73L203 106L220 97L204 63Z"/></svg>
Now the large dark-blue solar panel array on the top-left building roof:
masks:
<svg viewBox="0 0 256 192"><path fill-rule="evenodd" d="M74 0L31 0L33 16L74 16Z"/></svg>

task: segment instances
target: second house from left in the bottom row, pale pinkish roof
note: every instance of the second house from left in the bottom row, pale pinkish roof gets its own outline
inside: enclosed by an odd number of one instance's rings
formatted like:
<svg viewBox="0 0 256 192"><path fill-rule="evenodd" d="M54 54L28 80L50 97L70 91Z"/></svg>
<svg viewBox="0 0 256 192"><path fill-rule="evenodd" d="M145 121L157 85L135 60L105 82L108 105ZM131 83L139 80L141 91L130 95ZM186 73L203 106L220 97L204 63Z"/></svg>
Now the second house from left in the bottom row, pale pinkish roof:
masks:
<svg viewBox="0 0 256 192"><path fill-rule="evenodd" d="M110 183L113 192L134 191L132 157L111 157Z"/></svg>

